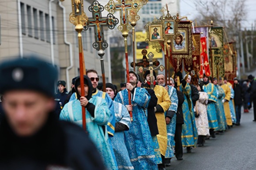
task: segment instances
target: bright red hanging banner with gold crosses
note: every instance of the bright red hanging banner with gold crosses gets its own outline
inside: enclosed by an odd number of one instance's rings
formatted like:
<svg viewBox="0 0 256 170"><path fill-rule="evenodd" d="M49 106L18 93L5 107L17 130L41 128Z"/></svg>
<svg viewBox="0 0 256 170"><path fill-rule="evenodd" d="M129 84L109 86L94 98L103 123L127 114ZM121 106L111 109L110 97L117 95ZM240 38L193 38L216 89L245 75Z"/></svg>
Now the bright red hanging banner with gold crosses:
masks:
<svg viewBox="0 0 256 170"><path fill-rule="evenodd" d="M201 70L200 70L199 74L200 74L200 78L203 78L203 69L204 69L206 76L210 76L211 71L210 71L210 65L209 65L209 60L208 60L208 55L207 55L206 37L201 37L200 41L201 41L201 45L202 45L202 53L200 54L202 66L201 66Z"/></svg>

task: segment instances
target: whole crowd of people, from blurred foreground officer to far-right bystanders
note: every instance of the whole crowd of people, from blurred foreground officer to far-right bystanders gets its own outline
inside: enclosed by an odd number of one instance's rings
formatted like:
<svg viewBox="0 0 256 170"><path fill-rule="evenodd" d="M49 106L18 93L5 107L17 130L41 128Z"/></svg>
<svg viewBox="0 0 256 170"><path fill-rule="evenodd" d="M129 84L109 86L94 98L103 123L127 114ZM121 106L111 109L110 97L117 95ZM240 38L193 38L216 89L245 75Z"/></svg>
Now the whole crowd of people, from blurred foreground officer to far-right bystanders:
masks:
<svg viewBox="0 0 256 170"><path fill-rule="evenodd" d="M103 92L90 69L83 87L80 76L72 79L70 92L60 80L54 94L56 75L53 66L33 58L0 65L0 79L6 80L0 82L0 167L165 170L174 157L183 160L184 147L192 152L240 126L241 106L246 113L256 104L252 75L241 83L234 78L232 85L225 77L204 75L200 81L177 72L166 82L154 71L144 72L143 79L130 71L123 89L106 83Z"/></svg>

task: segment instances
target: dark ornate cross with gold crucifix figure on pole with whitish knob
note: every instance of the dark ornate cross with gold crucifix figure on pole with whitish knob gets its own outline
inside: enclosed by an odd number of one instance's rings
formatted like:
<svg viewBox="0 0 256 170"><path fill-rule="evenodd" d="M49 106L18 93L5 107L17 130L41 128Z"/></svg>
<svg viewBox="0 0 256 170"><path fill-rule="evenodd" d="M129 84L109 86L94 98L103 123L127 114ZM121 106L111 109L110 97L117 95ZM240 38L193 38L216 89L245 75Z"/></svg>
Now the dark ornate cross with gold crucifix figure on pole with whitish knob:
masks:
<svg viewBox="0 0 256 170"><path fill-rule="evenodd" d="M108 26L109 29L113 29L115 25L117 25L118 19L115 18L113 14L108 14L107 17L102 17L103 10L104 7L95 0L89 7L89 11L92 12L92 18L88 18L88 21L86 25L83 26L83 29L87 30L89 27L94 27L95 42L92 46L98 51L98 55L100 56L103 91L105 92L106 82L103 56L105 54L105 48L108 47L108 43L104 40L103 27Z"/></svg>

